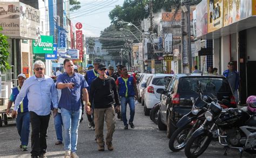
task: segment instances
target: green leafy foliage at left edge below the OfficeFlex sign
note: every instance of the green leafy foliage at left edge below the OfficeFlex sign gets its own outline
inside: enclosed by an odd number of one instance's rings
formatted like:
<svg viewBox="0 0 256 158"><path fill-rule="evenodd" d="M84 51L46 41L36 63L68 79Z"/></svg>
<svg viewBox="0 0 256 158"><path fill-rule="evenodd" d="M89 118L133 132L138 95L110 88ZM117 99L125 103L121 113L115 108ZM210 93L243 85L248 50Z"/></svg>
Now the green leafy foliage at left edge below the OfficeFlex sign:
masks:
<svg viewBox="0 0 256 158"><path fill-rule="evenodd" d="M2 31L3 29L0 27L0 31ZM7 41L6 36L4 36L2 33L0 33L0 71L6 71L8 69L10 69L10 65L8 63L8 58L9 58L9 52L8 52L8 48L9 48L9 44Z"/></svg>

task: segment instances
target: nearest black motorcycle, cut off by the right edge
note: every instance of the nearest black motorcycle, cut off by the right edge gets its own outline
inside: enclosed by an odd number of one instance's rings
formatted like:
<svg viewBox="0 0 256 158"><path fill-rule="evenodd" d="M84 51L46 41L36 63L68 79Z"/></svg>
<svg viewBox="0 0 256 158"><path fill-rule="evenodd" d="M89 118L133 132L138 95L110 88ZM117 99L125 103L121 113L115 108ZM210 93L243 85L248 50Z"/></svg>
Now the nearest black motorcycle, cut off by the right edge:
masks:
<svg viewBox="0 0 256 158"><path fill-rule="evenodd" d="M226 149L229 147L251 154L256 153L256 117L253 114L249 114L245 109L223 109L218 103L211 102L204 115L204 123L187 141L187 157L198 157L205 152L213 139L215 128L220 145Z"/></svg>

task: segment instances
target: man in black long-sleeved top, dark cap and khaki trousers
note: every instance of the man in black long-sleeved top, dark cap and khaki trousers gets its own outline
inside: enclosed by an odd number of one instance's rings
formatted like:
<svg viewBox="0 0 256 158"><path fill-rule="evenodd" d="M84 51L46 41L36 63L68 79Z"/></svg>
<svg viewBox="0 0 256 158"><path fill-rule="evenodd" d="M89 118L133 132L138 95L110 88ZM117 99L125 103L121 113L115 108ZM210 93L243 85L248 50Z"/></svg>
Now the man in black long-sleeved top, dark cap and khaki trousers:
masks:
<svg viewBox="0 0 256 158"><path fill-rule="evenodd" d="M104 118L107 125L106 145L107 149L113 150L112 136L114 133L116 120L114 119L114 103L116 110L120 111L120 101L117 92L116 82L113 78L106 75L106 66L99 64L99 77L91 83L90 102L95 106L95 125L98 150L104 151Z"/></svg>

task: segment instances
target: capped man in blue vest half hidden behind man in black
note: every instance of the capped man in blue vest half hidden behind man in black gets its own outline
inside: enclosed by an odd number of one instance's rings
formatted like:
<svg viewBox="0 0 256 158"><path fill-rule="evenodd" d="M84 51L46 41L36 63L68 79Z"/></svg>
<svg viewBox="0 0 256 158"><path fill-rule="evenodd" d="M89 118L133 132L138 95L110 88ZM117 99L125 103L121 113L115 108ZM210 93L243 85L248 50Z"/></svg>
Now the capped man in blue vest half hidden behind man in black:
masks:
<svg viewBox="0 0 256 158"><path fill-rule="evenodd" d="M93 60L93 66L94 68L92 68L91 70L87 71L86 72L86 75L85 75L85 80L87 81L87 84L89 85L89 87L87 87L87 90L88 92L90 93L90 87L91 87L91 83L94 79L96 79L98 76L99 76L99 73L98 73L98 66L99 64L102 63L102 59L100 58L95 58ZM94 105L92 103L92 110L94 109ZM89 125L88 127L91 128L92 130L95 130L95 123L93 121L93 111L92 111L92 114L89 115L87 114L87 119L89 121Z"/></svg>

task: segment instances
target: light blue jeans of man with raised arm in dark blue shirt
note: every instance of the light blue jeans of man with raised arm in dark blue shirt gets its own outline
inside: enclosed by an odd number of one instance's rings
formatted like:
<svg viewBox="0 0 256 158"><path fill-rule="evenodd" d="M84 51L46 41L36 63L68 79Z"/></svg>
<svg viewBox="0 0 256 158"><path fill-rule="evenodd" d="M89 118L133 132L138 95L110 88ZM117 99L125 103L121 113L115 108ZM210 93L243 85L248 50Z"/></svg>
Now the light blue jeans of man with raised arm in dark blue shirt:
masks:
<svg viewBox="0 0 256 158"><path fill-rule="evenodd" d="M64 128L64 149L76 152L78 126L82 116L82 109L79 111L69 111L62 108L62 121Z"/></svg>

